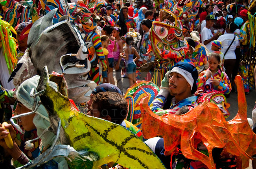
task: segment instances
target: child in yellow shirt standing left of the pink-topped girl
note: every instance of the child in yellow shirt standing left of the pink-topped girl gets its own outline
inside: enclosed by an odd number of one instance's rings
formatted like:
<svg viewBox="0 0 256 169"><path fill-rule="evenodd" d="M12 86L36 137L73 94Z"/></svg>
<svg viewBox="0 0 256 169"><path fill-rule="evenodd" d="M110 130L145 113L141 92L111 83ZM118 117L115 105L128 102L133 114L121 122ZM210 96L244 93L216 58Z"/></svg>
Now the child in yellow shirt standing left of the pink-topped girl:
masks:
<svg viewBox="0 0 256 169"><path fill-rule="evenodd" d="M102 83L109 83L109 79L108 79L108 76L107 76L107 73L109 71L109 60L108 60L109 51L107 50L107 46L109 45L109 37L106 36L106 35L102 35L100 40L101 40L101 45L102 45L102 48L103 48L103 53L104 53L104 56L106 58L106 60L104 62L107 64L107 69L102 70L102 78L103 78Z"/></svg>

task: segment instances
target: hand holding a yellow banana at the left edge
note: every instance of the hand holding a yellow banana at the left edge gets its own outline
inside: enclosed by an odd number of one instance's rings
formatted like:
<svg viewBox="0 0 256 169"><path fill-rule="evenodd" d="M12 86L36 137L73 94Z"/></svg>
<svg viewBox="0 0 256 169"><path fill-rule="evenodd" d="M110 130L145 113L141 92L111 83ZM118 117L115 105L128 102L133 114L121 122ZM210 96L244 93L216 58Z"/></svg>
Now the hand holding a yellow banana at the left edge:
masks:
<svg viewBox="0 0 256 169"><path fill-rule="evenodd" d="M13 129L13 126L11 126L11 124L8 124L8 125L5 125L5 128L9 129L9 132L11 133L11 138L14 142L14 138L16 137L16 134ZM6 142L4 140L4 138L7 137L9 132L2 127L2 124L0 124L0 146L2 146L4 149L9 149L9 147L7 147Z"/></svg>

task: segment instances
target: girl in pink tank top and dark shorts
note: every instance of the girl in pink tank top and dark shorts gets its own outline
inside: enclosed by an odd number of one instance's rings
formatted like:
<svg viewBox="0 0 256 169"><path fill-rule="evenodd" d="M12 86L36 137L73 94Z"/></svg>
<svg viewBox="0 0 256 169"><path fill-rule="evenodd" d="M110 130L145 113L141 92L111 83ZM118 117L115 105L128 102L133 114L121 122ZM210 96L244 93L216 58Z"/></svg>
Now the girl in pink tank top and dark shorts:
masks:
<svg viewBox="0 0 256 169"><path fill-rule="evenodd" d="M112 31L112 36L114 36L114 38L116 38L115 44L114 44L114 49L113 49L113 56L114 56L114 67L116 70L117 87L123 93L121 71L124 66L124 59L122 57L120 57L120 53L123 52L123 40L121 39L121 36L122 36L121 28L114 27L114 30Z"/></svg>

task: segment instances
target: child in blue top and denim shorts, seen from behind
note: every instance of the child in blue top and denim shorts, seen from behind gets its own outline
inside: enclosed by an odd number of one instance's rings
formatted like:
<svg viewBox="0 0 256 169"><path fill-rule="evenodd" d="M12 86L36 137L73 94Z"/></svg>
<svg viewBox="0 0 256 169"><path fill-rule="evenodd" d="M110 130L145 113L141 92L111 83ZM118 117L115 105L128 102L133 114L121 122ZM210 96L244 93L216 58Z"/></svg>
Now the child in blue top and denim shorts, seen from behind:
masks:
<svg viewBox="0 0 256 169"><path fill-rule="evenodd" d="M140 55L138 54L137 50L134 47L131 46L132 43L133 43L133 37L132 36L127 36L125 38L125 43L126 43L127 48L124 50L124 55L122 53L121 56L126 61L127 77L129 79L129 84L131 86L136 82L136 64L135 64L135 61L140 59ZM133 59L133 55L136 56L135 59Z"/></svg>

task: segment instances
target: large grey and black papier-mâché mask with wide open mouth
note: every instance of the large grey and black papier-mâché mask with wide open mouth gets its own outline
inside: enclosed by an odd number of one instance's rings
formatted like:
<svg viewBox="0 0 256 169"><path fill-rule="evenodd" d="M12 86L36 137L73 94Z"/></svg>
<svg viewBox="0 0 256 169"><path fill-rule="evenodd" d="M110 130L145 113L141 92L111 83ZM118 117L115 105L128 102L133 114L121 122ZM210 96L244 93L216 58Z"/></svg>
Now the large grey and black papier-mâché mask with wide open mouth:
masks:
<svg viewBox="0 0 256 169"><path fill-rule="evenodd" d="M76 104L86 102L96 87L96 83L86 79L91 68L89 51L79 31L68 20L52 25L56 11L54 9L39 18L31 27L28 56L38 74L45 65L49 72L63 73L69 97Z"/></svg>

